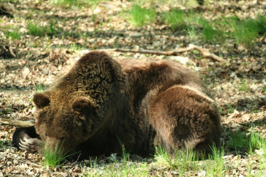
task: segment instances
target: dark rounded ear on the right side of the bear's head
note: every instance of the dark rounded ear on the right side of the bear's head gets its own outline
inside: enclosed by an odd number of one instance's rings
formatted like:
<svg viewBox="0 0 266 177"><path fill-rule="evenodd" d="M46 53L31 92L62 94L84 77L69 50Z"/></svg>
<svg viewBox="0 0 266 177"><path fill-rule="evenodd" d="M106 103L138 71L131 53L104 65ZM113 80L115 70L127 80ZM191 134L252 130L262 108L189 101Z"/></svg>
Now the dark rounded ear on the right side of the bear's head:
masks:
<svg viewBox="0 0 266 177"><path fill-rule="evenodd" d="M79 98L76 98L76 100L74 101L72 108L77 112L85 113L85 112L91 112L92 110L94 110L95 106L91 102L90 98L79 97Z"/></svg>

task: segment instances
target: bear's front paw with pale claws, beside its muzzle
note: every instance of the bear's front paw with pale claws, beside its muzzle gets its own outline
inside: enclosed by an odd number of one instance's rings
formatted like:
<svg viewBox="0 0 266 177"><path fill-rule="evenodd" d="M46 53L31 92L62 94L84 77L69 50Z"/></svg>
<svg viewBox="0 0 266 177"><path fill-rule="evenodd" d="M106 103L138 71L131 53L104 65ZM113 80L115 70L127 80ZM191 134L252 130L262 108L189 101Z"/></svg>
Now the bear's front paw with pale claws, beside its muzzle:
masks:
<svg viewBox="0 0 266 177"><path fill-rule="evenodd" d="M18 143L19 144L18 148L19 150L23 151L37 152L42 150L41 143L42 141L37 138L24 137L23 140L20 139L20 143Z"/></svg>

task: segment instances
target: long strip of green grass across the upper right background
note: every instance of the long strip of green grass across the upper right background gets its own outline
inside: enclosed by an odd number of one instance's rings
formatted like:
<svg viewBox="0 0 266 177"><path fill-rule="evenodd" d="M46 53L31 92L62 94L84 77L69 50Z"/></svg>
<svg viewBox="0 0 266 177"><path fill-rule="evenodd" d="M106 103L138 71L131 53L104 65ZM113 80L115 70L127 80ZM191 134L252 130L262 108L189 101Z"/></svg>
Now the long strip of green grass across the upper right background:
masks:
<svg viewBox="0 0 266 177"><path fill-rule="evenodd" d="M201 34L205 42L224 44L228 38L233 39L237 45L248 47L252 46L259 36L265 36L266 18L263 16L243 20L236 16L220 17L214 21L200 16L201 14L185 13L180 9L163 13L164 20L173 31L186 29L191 39Z"/></svg>

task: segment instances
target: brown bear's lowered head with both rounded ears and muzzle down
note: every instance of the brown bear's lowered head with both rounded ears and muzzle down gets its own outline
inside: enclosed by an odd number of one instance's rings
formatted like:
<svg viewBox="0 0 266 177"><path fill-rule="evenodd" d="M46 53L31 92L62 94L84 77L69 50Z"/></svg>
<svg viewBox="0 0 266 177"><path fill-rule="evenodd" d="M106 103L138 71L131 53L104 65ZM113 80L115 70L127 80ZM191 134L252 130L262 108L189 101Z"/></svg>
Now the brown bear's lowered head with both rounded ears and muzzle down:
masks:
<svg viewBox="0 0 266 177"><path fill-rule="evenodd" d="M100 122L89 97L47 91L36 93L33 102L37 107L36 132L44 148L53 152L75 153L76 146L92 136L98 127L96 122Z"/></svg>

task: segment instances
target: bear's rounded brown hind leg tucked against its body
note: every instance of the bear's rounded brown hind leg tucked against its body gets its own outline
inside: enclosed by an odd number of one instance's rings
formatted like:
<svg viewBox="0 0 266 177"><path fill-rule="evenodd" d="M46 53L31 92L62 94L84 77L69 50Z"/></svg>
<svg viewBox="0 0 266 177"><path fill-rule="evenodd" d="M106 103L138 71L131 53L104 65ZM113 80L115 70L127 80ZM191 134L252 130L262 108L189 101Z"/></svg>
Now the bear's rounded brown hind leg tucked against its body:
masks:
<svg viewBox="0 0 266 177"><path fill-rule="evenodd" d="M187 146L211 153L213 142L219 146L219 111L211 98L195 89L173 86L160 93L151 104L150 122L170 153Z"/></svg>

